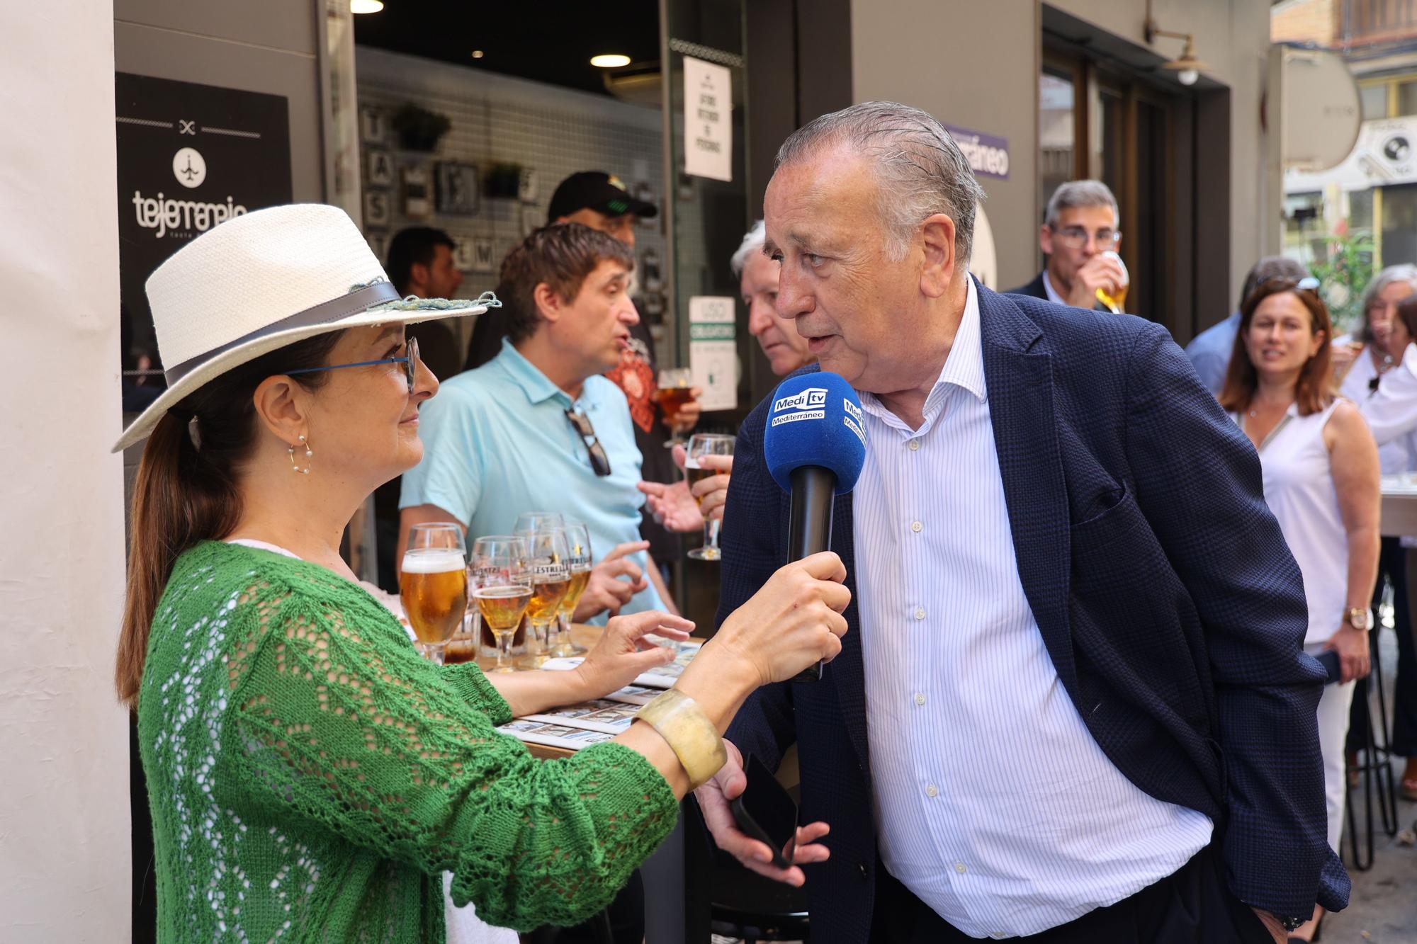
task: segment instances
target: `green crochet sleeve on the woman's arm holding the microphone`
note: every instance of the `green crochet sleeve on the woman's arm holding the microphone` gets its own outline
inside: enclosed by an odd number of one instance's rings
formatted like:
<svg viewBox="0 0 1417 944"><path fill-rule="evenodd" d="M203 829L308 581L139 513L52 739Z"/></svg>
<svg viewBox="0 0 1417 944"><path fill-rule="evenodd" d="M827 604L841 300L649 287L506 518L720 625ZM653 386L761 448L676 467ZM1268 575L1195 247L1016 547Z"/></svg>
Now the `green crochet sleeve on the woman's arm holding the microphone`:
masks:
<svg viewBox="0 0 1417 944"><path fill-rule="evenodd" d="M302 573L254 571L228 614L220 802L452 872L453 901L490 924L604 909L674 825L659 771L619 744L531 757L469 703L507 714L485 679L444 675L373 598Z"/></svg>

